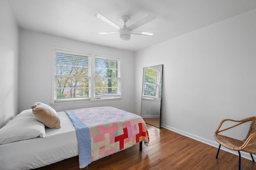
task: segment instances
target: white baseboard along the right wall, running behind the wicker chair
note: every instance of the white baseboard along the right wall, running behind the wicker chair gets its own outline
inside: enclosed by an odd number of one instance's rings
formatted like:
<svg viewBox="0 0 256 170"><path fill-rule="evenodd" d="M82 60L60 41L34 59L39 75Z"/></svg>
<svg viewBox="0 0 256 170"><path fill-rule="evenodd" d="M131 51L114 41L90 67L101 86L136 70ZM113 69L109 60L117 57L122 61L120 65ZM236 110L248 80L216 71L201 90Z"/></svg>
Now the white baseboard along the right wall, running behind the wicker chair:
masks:
<svg viewBox="0 0 256 170"><path fill-rule="evenodd" d="M162 128L166 128L166 129L168 129L168 130L171 130L171 131L173 131L173 132L176 132L176 133L178 133L178 134L182 134L183 136L192 138L192 139L197 140L197 141L199 141L199 142L208 144L208 145L213 146L213 147L215 147L215 148L219 148L219 145L220 145L220 144L219 144L218 142L216 142L216 141L208 140L208 139L202 138L202 137L200 137L200 136L196 136L196 135L194 135L194 134L190 134L190 133L184 132L184 131L182 131L182 130L178 130L178 129L176 129L176 128L169 127L169 126L167 126L167 125L163 125L163 124L162 124L161 127L162 127ZM212 134L212 135L214 135L214 134ZM226 152L229 152L229 153L238 155L238 152L237 152L237 151L230 150L230 149L228 149L228 148L225 148L224 146L220 147L220 150L224 150L224 151L226 151ZM216 154L217 154L217 151L218 151L218 149L216 149ZM248 159L248 160L252 160L252 157L251 157L251 155L250 155L249 153L243 152L243 151L241 151L240 153L241 153L241 157L246 158L246 159ZM215 157L216 155L213 155L213 156ZM254 156L254 157L255 157L255 156ZM255 158L254 158L254 159L255 159Z"/></svg>

